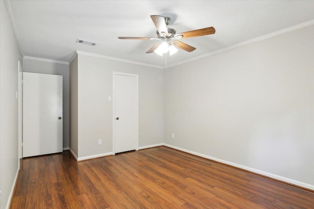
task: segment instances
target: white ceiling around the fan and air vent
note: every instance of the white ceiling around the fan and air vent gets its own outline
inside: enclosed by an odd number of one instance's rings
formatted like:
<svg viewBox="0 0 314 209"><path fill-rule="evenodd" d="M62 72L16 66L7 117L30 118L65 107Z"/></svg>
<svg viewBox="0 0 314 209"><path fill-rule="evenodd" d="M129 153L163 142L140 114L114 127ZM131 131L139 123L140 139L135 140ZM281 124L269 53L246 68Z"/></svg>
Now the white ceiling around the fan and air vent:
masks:
<svg viewBox="0 0 314 209"><path fill-rule="evenodd" d="M251 0L12 0L9 11L25 56L68 62L76 50L160 67L314 20L314 1ZM145 52L157 40L150 15L168 16L177 33L213 26L216 33L184 39L196 47L167 57ZM77 39L98 43L88 46Z"/></svg>

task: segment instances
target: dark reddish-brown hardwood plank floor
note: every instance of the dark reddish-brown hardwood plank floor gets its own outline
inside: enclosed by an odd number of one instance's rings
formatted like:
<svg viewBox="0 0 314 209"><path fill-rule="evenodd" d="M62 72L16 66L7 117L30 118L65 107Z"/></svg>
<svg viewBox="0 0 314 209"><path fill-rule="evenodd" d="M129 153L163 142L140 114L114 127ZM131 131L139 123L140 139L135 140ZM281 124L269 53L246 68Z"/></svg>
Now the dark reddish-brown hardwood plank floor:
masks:
<svg viewBox="0 0 314 209"><path fill-rule="evenodd" d="M23 159L11 209L314 209L314 192L164 146Z"/></svg>

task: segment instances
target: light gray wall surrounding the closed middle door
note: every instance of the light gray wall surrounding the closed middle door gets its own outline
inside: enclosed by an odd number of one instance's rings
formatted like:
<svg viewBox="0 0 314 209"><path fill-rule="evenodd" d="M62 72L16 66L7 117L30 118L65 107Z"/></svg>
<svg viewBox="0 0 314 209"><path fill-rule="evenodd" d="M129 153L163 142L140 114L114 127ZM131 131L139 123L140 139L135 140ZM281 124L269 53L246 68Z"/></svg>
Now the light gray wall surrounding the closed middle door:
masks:
<svg viewBox="0 0 314 209"><path fill-rule="evenodd" d="M78 158L112 152L113 71L139 75L139 147L163 142L163 70L78 54Z"/></svg>

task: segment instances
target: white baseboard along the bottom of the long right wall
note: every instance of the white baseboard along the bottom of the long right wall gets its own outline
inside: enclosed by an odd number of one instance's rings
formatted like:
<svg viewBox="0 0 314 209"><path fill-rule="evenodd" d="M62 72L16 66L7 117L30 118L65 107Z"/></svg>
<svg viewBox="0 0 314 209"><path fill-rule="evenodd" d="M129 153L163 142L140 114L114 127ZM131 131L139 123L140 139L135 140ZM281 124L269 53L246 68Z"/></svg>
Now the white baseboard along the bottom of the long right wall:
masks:
<svg viewBox="0 0 314 209"><path fill-rule="evenodd" d="M165 144L164 143L163 145L166 146L166 147L170 147L170 148L173 148L173 149L176 149L176 150L180 150L180 151L192 154L192 155L196 155L196 156L199 156L199 157L202 157L202 158L206 158L206 159L209 159L209 160L212 160L212 161L215 161L215 162L231 165L233 167L240 168L240 169L243 169L243 170L246 170L246 171L250 171L252 173L260 174L262 176L266 176L266 177L269 177L271 179L275 179L275 180L278 180L278 181L281 181L281 182L285 182L285 183L288 183L288 184L291 184L291 185L294 185L294 186L300 186L300 187L303 187L303 188L306 188L306 189L314 190L314 185L310 185L310 184L307 184L307 183L299 182L299 181L296 181L296 180L293 180L293 179L288 179L288 178L283 177L283 176L278 176L278 175L275 175L275 174L272 174L272 173L264 172L262 170L258 170L258 169L251 168L251 167L247 167L247 166L240 165L240 164L237 164L237 163L231 163L229 161L224 161L224 160L221 160L221 159L218 159L218 158L213 158L213 157L210 157L208 155L203 155L203 154L200 154L200 153L197 153L197 152L193 152L193 151L190 151L190 150L182 149L182 148L170 145L170 144Z"/></svg>

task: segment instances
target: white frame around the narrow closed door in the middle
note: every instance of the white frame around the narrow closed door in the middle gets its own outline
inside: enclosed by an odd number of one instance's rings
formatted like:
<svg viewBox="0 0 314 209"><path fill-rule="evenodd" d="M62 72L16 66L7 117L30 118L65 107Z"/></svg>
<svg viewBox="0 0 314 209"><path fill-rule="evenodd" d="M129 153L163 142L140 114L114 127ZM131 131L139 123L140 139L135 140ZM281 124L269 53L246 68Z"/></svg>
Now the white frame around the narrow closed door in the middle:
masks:
<svg viewBox="0 0 314 209"><path fill-rule="evenodd" d="M138 74L112 72L112 155L115 155L115 75L131 76L136 78L136 150L138 150Z"/></svg>

